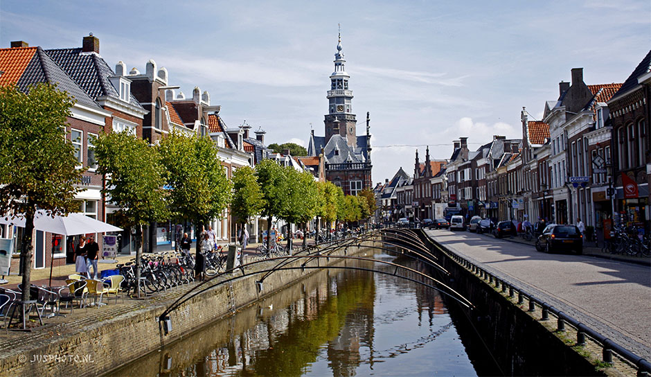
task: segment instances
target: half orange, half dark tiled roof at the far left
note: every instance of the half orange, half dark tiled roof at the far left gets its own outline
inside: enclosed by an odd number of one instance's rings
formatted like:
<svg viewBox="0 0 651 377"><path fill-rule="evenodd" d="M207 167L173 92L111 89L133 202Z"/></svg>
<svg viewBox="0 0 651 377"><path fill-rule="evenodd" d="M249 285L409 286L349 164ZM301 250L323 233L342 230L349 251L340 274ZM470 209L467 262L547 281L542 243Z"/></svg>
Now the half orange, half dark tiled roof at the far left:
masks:
<svg viewBox="0 0 651 377"><path fill-rule="evenodd" d="M57 89L66 91L78 103L101 109L86 92L64 72L41 47L17 47L0 49L0 71L3 84L13 83L21 91L38 82L57 84Z"/></svg>

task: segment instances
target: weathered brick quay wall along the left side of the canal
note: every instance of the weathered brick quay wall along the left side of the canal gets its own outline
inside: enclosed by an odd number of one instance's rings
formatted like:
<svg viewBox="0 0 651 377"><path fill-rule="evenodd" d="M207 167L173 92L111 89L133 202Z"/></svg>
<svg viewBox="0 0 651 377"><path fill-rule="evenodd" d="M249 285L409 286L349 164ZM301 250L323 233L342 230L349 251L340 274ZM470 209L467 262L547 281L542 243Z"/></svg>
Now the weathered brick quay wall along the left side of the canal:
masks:
<svg viewBox="0 0 651 377"><path fill-rule="evenodd" d="M366 243L373 245L373 243ZM348 255L371 256L373 249L348 247ZM344 255L342 249L332 255ZM300 267L304 260L288 267ZM272 268L278 262L256 265L256 270ZM319 258L308 266L344 263L340 258ZM189 336L211 322L232 315L232 304L244 308L292 286L319 270L301 269L274 272L264 281L258 294L256 280L261 274L242 277L203 292L170 313L171 331L163 335L159 316L170 304L195 284L182 286L141 301L109 304L109 308L89 308L88 315L62 321L32 333L2 338L0 341L0 376L98 376L127 362L157 351ZM239 272L237 273L239 274ZM237 275L234 275L237 276ZM221 279L221 278L220 278ZM226 279L226 277L224 277ZM233 301L231 301L231 299ZM112 306L112 307L111 307ZM97 310L98 314L93 314ZM75 312L76 313L76 312Z"/></svg>

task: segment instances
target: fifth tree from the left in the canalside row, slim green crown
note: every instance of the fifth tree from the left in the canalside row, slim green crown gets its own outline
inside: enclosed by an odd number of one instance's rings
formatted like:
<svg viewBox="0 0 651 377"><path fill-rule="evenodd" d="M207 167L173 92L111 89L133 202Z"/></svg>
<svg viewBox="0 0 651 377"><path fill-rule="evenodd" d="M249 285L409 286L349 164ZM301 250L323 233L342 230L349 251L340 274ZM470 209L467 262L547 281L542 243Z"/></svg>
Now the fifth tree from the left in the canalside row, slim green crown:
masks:
<svg viewBox="0 0 651 377"><path fill-rule="evenodd" d="M267 218L267 235L270 235L271 222L274 216L279 216L282 213L287 198L285 169L276 164L276 161L262 160L260 164L256 165L256 179L258 179L262 197L265 200L262 216ZM270 245L270 240L271 237L267 237L267 247Z"/></svg>

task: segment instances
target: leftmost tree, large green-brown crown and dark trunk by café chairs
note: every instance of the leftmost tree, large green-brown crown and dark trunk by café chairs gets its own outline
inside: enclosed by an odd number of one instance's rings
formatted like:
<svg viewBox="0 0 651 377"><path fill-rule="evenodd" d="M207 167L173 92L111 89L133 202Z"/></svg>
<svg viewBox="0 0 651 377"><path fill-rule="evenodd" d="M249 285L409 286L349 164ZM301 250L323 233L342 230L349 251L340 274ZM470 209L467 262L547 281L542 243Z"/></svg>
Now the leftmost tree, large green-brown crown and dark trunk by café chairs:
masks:
<svg viewBox="0 0 651 377"><path fill-rule="evenodd" d="M32 233L38 209L51 215L74 211L83 170L65 139L73 101L55 86L39 84L27 93L0 87L0 213L23 213L22 286L30 286ZM21 300L29 300L24 289Z"/></svg>

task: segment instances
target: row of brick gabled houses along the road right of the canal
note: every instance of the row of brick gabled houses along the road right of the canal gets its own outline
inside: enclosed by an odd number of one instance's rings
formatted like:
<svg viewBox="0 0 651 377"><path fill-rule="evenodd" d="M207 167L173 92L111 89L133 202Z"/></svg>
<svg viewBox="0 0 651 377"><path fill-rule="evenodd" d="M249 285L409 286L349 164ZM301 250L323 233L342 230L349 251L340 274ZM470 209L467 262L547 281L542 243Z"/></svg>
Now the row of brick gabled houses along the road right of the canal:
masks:
<svg viewBox="0 0 651 377"><path fill-rule="evenodd" d="M454 141L449 159L400 168L375 186L379 221L440 218L604 220L649 231L651 51L623 83L587 84L583 69L560 82L542 119L523 107L521 139L495 135L476 150ZM434 168L438 167L438 168Z"/></svg>

